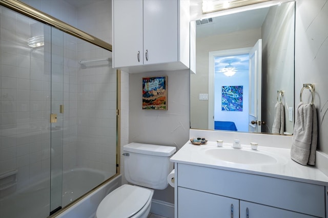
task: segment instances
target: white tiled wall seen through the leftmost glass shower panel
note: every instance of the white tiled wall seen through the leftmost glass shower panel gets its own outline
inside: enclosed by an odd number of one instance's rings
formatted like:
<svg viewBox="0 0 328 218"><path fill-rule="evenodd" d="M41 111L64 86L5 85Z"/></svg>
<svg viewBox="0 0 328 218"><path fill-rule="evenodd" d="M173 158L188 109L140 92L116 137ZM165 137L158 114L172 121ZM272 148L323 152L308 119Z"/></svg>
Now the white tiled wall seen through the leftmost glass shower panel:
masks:
<svg viewBox="0 0 328 218"><path fill-rule="evenodd" d="M3 7L0 24L0 175L17 171L10 192L49 176L50 50L31 50L27 40L50 31Z"/></svg>

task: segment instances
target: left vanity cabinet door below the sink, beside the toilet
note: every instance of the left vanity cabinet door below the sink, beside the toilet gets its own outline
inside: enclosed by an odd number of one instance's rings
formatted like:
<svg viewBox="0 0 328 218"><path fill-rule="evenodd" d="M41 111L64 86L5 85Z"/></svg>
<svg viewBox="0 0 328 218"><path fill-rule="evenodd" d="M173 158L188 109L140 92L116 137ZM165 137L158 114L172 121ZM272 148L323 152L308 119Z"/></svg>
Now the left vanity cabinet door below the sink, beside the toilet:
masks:
<svg viewBox="0 0 328 218"><path fill-rule="evenodd" d="M239 200L178 187L178 218L239 217Z"/></svg>

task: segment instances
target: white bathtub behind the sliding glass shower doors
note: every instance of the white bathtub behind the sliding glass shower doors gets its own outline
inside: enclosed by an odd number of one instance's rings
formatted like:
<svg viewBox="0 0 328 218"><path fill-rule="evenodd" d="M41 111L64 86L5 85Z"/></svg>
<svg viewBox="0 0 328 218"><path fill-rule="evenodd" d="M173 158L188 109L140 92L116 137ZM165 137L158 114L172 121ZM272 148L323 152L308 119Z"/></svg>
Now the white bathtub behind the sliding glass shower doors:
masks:
<svg viewBox="0 0 328 218"><path fill-rule="evenodd" d="M67 204L71 203L75 199L79 198L80 196L84 195L87 191L91 190L105 179L109 178L109 174L101 171L97 171L94 169L89 168L76 168L70 171L63 172L63 188L62 188L62 198L61 206L65 207ZM52 178L52 181L59 179L61 180L60 176L55 176ZM119 180L118 180L119 179ZM120 177L115 178L115 180L109 181L104 186L101 186L98 189L101 189L103 192L99 192L100 196L106 196L111 190L115 189L120 185ZM58 187L61 187L59 185ZM98 191L96 189L89 196L86 197L86 201L90 201L92 199L92 195L95 195ZM53 190L56 192L56 190ZM58 189L60 191L60 189ZM98 195L99 195L98 193ZM59 196L59 195L58 195ZM100 197L100 201L104 198ZM89 198L89 199L88 199ZM95 199L97 199L96 197ZM33 218L45 218L49 216L50 212L50 181L49 179L45 179L29 185L24 189L17 190L10 196L3 197L0 199L0 217L33 217ZM59 200L59 201L60 201ZM81 199L78 204L83 205L85 199ZM92 199L92 201L94 201ZM99 203L100 203L99 201ZM97 204L97 201L93 204ZM75 204L77 205L77 204ZM74 206L75 206L74 205ZM91 206L91 205L90 205ZM88 213L91 213L90 210ZM76 207L76 206L75 206ZM86 206L84 206L87 208ZM95 207L95 205L94 205ZM96 208L93 212L96 211ZM70 209L65 210L65 212L69 212ZM88 213L84 213L87 215ZM64 213L63 213L64 215ZM75 217L75 216L58 216L58 217ZM91 215L91 214L90 214ZM89 216L76 216L76 217L89 217Z"/></svg>

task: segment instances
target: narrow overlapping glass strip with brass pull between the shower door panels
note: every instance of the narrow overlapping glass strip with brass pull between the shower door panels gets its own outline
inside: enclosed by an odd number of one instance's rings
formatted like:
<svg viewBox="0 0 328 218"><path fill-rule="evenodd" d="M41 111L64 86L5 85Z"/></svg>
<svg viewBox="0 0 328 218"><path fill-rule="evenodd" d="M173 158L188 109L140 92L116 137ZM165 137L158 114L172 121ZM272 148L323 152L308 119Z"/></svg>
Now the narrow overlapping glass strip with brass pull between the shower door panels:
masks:
<svg viewBox="0 0 328 218"><path fill-rule="evenodd" d="M50 214L61 209L63 195L64 33L51 28L51 188Z"/></svg>

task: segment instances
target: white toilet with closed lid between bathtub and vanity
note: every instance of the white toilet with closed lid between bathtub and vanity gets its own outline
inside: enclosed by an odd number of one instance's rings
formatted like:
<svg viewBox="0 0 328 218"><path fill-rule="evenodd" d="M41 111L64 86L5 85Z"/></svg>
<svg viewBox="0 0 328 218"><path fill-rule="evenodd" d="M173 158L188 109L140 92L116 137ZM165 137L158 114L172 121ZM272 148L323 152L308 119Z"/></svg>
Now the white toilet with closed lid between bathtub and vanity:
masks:
<svg viewBox="0 0 328 218"><path fill-rule="evenodd" d="M168 186L175 147L130 143L123 147L124 175L133 185L122 185L98 205L96 218L147 218L154 189Z"/></svg>

